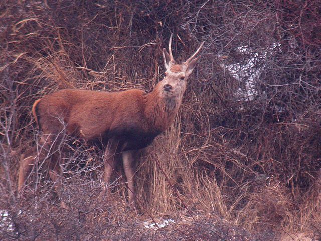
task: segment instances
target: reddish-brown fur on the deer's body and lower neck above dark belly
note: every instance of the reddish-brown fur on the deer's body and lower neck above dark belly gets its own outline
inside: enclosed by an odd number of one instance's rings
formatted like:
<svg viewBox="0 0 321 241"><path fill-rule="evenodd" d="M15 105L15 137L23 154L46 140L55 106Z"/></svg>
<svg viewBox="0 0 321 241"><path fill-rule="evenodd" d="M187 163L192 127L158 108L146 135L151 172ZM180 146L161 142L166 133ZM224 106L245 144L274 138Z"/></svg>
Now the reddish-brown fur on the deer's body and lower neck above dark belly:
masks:
<svg viewBox="0 0 321 241"><path fill-rule="evenodd" d="M110 133L131 128L150 135L161 133L172 123L178 107L173 112L165 110L166 101L156 91L146 94L138 89L120 92L65 89L37 100L33 115L39 119L44 134L58 134L66 123L69 135L81 133L88 141L104 135L108 141L113 137Z"/></svg>

